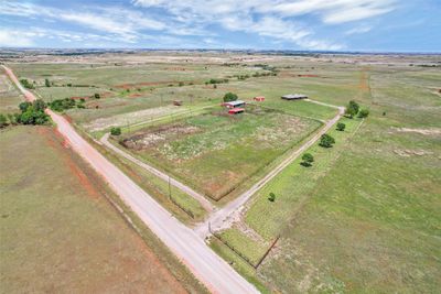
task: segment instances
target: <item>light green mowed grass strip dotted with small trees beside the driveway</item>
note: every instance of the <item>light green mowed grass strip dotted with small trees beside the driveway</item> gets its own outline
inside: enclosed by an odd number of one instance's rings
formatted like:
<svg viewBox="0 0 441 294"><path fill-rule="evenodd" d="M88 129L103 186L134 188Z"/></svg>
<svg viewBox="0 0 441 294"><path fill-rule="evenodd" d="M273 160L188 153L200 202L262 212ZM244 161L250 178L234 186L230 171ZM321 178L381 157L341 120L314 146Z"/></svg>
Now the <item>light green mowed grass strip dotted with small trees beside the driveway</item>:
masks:
<svg viewBox="0 0 441 294"><path fill-rule="evenodd" d="M311 195L318 181L327 173L361 123L358 119L346 118L340 122L346 124L345 131L337 131L334 127L327 132L335 138L336 143L333 148L325 149L315 143L306 151L314 156L312 166L300 165L300 156L260 189L251 200L245 221L266 240L269 241L280 233L287 219L295 214L302 199ZM268 199L270 193L276 195L275 202Z"/></svg>

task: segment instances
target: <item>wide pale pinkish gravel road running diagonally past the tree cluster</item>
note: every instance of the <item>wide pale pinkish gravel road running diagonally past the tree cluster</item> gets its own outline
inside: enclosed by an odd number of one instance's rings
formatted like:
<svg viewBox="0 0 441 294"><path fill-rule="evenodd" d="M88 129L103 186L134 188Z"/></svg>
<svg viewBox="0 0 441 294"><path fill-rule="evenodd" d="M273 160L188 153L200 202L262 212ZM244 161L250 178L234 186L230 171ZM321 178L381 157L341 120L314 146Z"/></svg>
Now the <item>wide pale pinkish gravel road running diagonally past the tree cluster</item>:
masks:
<svg viewBox="0 0 441 294"><path fill-rule="evenodd" d="M35 100L35 96L20 85L12 70L3 67L26 99ZM83 139L66 119L50 109L46 109L46 113L51 116L72 149L103 176L115 193L211 292L258 293L254 285L212 251L192 229L171 216L149 194Z"/></svg>

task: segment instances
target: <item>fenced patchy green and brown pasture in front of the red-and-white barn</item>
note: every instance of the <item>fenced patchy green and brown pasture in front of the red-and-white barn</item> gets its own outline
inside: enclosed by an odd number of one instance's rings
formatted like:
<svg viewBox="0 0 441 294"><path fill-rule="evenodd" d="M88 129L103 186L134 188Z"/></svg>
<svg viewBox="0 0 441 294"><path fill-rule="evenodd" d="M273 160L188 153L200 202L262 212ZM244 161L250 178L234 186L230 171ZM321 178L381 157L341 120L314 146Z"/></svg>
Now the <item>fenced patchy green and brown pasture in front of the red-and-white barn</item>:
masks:
<svg viewBox="0 0 441 294"><path fill-rule="evenodd" d="M255 106L240 116L217 107L126 134L123 145L217 200L319 127Z"/></svg>

